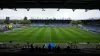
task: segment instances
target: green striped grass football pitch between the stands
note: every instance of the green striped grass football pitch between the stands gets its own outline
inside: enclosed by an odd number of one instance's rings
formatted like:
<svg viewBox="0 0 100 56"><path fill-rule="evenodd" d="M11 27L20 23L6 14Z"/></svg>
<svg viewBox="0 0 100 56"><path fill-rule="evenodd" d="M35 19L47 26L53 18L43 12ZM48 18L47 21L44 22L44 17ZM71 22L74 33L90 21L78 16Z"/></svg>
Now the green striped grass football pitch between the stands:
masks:
<svg viewBox="0 0 100 56"><path fill-rule="evenodd" d="M0 32L0 42L67 43L100 42L100 33L76 27L23 27L10 32Z"/></svg>

